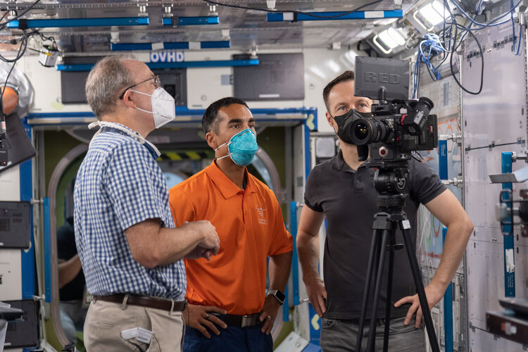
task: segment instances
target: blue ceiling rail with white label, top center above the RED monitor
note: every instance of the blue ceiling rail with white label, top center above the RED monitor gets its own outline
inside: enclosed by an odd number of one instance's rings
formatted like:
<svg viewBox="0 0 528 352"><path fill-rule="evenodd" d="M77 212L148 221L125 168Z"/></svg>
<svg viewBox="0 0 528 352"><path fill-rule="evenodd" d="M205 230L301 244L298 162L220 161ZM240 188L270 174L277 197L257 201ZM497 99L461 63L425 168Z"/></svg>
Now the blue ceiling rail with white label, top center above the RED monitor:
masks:
<svg viewBox="0 0 528 352"><path fill-rule="evenodd" d="M346 15L341 15L345 12L310 12L309 14L298 13L297 21L318 21L318 20L374 20L377 18L402 18L403 10L393 10L393 11L356 11L353 13L347 13ZM334 18L319 18L313 17L311 15L319 16L337 16ZM268 13L267 17L268 22L291 22L291 20L284 20L284 13Z"/></svg>

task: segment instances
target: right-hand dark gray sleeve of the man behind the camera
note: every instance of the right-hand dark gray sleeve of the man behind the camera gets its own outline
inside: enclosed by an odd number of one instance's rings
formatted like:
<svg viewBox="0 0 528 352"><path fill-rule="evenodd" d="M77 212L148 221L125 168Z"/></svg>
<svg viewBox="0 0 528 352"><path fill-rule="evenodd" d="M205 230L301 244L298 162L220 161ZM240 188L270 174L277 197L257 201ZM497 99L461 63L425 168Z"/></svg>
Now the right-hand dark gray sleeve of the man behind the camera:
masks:
<svg viewBox="0 0 528 352"><path fill-rule="evenodd" d="M413 159L409 163L409 173L412 177L410 196L417 202L427 204L447 189L427 163Z"/></svg>

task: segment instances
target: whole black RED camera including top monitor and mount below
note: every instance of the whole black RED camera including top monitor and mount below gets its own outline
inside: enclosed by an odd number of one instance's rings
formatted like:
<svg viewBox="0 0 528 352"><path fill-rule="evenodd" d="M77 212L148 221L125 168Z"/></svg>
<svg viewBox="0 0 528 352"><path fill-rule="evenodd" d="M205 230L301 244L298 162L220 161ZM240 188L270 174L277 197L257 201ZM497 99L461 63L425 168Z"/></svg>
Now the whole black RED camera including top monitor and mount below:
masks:
<svg viewBox="0 0 528 352"><path fill-rule="evenodd" d="M358 160L365 161L370 154L366 165L376 168L379 194L401 194L413 151L438 146L436 115L429 115L434 104L423 97L408 100L409 86L410 61L356 56L354 95L377 99L379 104L372 105L372 116L356 113L346 130L358 147Z"/></svg>

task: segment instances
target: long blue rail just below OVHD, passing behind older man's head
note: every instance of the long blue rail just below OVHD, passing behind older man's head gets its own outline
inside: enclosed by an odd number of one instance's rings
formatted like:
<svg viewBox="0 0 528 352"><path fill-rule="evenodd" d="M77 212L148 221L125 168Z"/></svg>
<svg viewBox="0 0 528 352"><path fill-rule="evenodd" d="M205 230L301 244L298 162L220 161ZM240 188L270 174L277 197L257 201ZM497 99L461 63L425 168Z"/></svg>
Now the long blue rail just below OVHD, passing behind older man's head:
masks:
<svg viewBox="0 0 528 352"><path fill-rule="evenodd" d="M258 65L258 58L249 60L220 60L220 61L182 61L179 63L146 63L149 68L211 68ZM58 71L89 71L94 63L76 65L56 65Z"/></svg>

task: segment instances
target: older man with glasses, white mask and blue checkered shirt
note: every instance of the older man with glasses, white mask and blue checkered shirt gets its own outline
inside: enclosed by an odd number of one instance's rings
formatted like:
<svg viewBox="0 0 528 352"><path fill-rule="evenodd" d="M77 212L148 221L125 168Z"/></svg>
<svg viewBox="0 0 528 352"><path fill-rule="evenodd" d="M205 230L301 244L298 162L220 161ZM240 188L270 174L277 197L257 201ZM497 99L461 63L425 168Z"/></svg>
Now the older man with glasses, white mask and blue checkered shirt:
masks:
<svg viewBox="0 0 528 352"><path fill-rule="evenodd" d="M174 100L140 61L96 63L87 101L100 129L75 182L75 240L94 296L84 323L88 351L180 351L182 258L220 246L208 221L175 229L168 191L145 137L174 118Z"/></svg>

